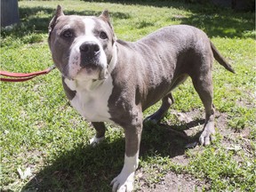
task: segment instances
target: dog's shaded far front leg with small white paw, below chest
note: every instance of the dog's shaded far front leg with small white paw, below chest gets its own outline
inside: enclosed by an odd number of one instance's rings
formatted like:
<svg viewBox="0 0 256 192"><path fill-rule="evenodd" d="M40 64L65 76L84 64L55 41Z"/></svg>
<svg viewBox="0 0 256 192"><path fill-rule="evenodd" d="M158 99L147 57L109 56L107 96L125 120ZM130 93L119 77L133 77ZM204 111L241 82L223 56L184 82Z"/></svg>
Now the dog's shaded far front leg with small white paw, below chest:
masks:
<svg viewBox="0 0 256 192"><path fill-rule="evenodd" d="M90 144L94 147L105 139L106 126L103 122L92 122L96 130L96 135L90 140Z"/></svg>

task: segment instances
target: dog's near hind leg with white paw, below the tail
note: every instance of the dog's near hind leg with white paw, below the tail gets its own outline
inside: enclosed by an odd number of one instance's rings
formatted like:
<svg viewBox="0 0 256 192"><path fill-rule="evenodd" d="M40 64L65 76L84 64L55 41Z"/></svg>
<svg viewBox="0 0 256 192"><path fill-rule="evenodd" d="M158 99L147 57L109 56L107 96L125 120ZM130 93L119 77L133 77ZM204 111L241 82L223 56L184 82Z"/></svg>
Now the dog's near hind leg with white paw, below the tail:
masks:
<svg viewBox="0 0 256 192"><path fill-rule="evenodd" d="M205 123L204 131L202 132L199 141L202 145L209 145L214 139L214 107L212 103L213 86L212 86L212 71L204 71L204 73L191 76L192 82L199 94L200 99L204 104L205 109Z"/></svg>

